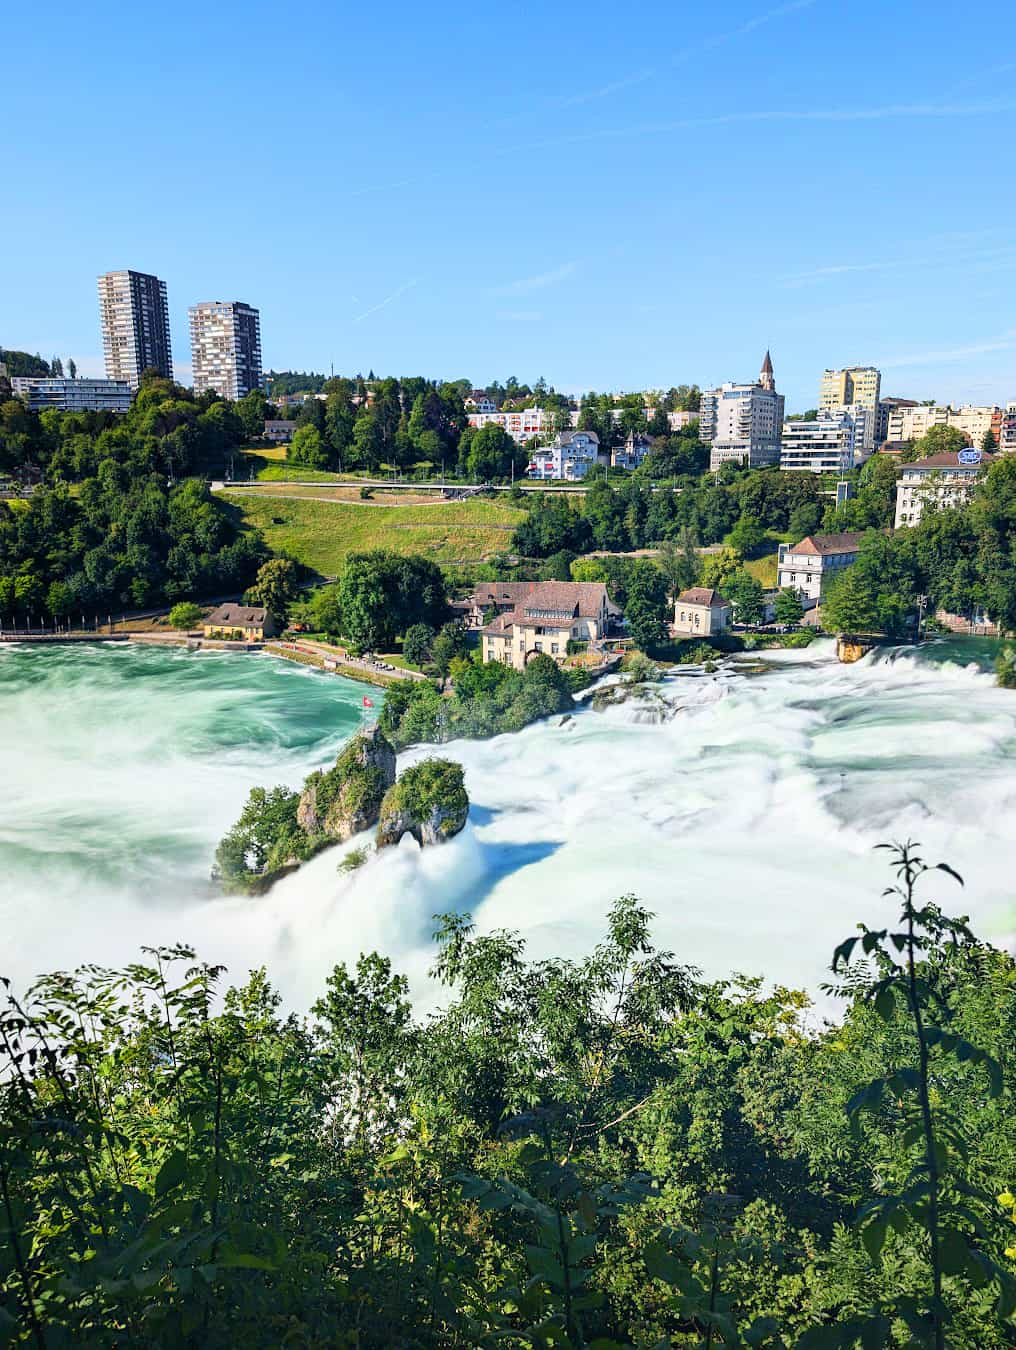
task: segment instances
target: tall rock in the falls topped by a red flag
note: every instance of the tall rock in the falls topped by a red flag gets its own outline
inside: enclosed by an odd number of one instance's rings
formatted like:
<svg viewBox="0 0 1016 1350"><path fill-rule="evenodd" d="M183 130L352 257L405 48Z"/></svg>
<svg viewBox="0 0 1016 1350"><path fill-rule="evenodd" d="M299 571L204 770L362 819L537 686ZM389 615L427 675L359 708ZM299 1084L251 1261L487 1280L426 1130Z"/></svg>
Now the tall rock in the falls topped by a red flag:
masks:
<svg viewBox="0 0 1016 1350"><path fill-rule="evenodd" d="M395 752L379 726L360 732L335 761L304 784L297 824L309 836L344 844L376 824L395 782Z"/></svg>

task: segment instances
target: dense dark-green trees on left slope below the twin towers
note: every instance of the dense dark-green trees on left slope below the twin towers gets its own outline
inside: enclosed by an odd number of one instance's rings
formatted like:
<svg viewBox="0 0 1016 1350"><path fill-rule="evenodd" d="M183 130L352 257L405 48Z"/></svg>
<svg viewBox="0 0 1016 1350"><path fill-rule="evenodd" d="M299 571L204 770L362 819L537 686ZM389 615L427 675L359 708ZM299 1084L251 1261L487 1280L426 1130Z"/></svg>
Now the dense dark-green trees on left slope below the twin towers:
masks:
<svg viewBox="0 0 1016 1350"><path fill-rule="evenodd" d="M240 406L240 405L236 405ZM232 404L148 379L130 413L0 404L0 614L67 617L243 590L266 548L205 486L246 431Z"/></svg>

